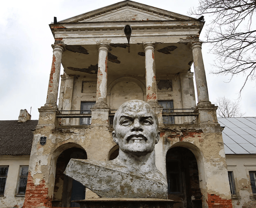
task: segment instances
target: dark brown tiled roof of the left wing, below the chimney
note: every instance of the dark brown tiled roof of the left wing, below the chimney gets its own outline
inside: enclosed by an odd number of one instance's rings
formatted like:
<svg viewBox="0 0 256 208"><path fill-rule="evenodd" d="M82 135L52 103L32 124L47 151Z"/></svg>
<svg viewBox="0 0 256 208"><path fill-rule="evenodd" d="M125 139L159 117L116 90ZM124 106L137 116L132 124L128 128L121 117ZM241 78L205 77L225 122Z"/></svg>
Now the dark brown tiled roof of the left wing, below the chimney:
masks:
<svg viewBox="0 0 256 208"><path fill-rule="evenodd" d="M0 121L0 155L30 155L38 120Z"/></svg>

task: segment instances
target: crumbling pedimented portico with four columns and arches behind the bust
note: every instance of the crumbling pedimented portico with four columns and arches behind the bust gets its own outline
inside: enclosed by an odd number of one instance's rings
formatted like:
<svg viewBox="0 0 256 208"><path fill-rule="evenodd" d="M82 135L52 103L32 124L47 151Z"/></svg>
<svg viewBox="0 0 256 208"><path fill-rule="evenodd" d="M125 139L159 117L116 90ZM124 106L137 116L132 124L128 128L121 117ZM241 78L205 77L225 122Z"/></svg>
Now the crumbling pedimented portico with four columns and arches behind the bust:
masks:
<svg viewBox="0 0 256 208"><path fill-rule="evenodd" d="M107 161L118 155L113 117L134 99L157 113L156 166L167 178L168 199L181 201L176 207L232 207L223 128L209 101L199 40L203 25L132 1L50 24L51 73L34 131L24 208L75 207L74 200L98 197L63 171L71 158Z"/></svg>

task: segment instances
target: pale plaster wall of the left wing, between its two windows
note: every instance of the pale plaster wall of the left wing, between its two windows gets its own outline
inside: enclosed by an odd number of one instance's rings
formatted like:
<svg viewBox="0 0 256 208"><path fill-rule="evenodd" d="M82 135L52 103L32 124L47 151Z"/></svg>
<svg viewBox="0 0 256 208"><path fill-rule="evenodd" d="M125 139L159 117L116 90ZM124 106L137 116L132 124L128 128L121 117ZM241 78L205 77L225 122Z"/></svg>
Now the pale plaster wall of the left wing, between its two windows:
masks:
<svg viewBox="0 0 256 208"><path fill-rule="evenodd" d="M23 156L0 156L0 166L9 166L5 184L4 196L0 196L0 207L22 207L24 196L16 196L19 183L19 167L29 165L29 155Z"/></svg>

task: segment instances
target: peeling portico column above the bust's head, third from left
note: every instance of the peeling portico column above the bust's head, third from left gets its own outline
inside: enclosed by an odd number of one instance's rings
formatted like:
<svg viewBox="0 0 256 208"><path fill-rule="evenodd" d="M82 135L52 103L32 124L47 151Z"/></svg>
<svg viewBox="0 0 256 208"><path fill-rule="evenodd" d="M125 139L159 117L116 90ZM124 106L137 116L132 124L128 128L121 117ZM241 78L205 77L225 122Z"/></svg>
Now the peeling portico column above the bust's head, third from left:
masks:
<svg viewBox="0 0 256 208"><path fill-rule="evenodd" d="M157 82L154 50L154 44L144 44L147 102L157 102Z"/></svg>

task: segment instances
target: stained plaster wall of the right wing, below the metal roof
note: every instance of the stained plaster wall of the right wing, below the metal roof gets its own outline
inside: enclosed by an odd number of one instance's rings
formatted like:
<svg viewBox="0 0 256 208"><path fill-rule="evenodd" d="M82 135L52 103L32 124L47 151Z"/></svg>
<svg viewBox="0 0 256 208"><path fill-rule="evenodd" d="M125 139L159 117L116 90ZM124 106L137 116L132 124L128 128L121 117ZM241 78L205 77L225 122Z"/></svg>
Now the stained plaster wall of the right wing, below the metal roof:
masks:
<svg viewBox="0 0 256 208"><path fill-rule="evenodd" d="M233 208L256 207L256 196L252 193L249 171L256 171L256 155L227 155L227 170L233 171L235 191Z"/></svg>

